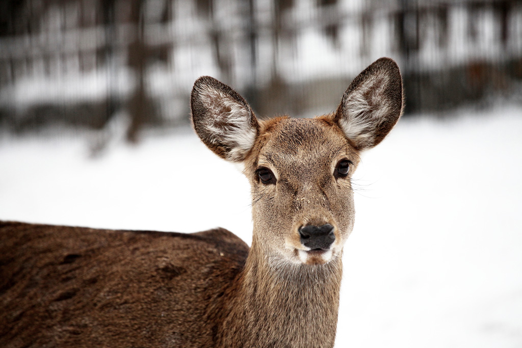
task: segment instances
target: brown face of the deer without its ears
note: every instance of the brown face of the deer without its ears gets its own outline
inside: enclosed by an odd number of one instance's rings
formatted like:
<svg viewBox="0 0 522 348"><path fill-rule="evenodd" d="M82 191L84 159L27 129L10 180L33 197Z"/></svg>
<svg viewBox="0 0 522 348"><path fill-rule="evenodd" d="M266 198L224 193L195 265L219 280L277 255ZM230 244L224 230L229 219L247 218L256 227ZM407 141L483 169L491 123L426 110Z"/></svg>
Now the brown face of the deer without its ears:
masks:
<svg viewBox="0 0 522 348"><path fill-rule="evenodd" d="M359 159L340 128L327 117L270 120L260 123L255 149L245 173L258 245L299 263L339 255L353 227L350 176Z"/></svg>

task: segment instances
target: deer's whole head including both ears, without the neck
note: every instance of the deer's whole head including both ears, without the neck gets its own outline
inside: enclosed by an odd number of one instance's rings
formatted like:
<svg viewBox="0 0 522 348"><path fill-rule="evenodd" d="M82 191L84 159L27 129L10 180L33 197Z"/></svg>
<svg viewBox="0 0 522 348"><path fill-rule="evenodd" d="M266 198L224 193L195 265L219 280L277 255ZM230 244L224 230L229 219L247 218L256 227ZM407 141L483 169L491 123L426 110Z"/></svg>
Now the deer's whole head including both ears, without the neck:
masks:
<svg viewBox="0 0 522 348"><path fill-rule="evenodd" d="M353 80L333 114L258 121L230 87L201 77L194 128L220 157L243 162L252 186L253 246L275 262L320 265L342 254L354 223L350 178L361 150L402 112L397 65L381 58Z"/></svg>

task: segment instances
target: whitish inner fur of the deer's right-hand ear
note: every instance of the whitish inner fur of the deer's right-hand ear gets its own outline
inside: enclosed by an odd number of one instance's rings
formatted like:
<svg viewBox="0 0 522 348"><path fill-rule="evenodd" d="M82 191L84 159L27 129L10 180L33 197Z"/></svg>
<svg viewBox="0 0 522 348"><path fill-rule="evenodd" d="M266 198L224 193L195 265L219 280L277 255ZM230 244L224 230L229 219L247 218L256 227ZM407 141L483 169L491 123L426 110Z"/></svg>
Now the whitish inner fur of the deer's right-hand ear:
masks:
<svg viewBox="0 0 522 348"><path fill-rule="evenodd" d="M343 105L345 116L339 124L346 137L361 148L373 145L375 130L389 113L389 102L383 94L387 85L386 74L372 76L352 91Z"/></svg>

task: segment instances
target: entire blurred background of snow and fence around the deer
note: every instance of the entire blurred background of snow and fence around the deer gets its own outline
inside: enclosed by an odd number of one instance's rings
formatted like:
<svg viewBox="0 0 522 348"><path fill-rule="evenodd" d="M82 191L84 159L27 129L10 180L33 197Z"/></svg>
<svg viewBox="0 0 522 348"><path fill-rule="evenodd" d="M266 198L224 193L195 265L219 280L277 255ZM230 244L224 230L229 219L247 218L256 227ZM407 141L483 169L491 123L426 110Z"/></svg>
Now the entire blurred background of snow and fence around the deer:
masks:
<svg viewBox="0 0 522 348"><path fill-rule="evenodd" d="M0 219L250 244L194 80L312 117L382 56L406 110L352 179L336 347L520 348L520 0L2 0Z"/></svg>

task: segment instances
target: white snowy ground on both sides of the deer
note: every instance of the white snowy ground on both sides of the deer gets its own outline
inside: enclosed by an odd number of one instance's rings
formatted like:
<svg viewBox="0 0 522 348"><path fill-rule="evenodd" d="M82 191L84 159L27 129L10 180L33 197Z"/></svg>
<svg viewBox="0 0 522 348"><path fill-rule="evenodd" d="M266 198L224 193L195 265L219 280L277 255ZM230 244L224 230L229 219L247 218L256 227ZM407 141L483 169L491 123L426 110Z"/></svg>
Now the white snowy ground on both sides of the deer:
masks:
<svg viewBox="0 0 522 348"><path fill-rule="evenodd" d="M451 117L449 117L451 118ZM522 346L522 110L403 119L355 174L337 347ZM189 129L0 138L0 219L251 241L246 178Z"/></svg>

